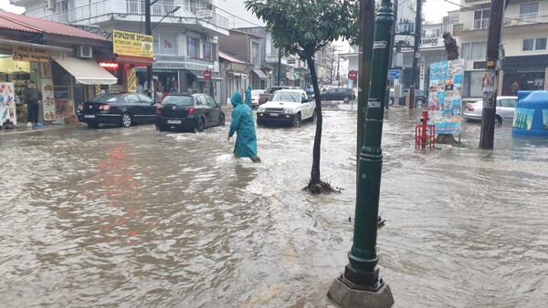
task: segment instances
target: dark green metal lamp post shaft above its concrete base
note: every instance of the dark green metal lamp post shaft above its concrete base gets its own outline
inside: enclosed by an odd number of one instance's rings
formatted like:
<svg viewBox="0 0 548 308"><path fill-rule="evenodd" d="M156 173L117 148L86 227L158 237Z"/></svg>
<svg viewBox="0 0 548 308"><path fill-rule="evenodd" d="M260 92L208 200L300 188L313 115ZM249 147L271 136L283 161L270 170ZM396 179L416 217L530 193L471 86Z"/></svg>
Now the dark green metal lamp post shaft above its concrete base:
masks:
<svg viewBox="0 0 548 308"><path fill-rule="evenodd" d="M364 146L358 161L353 246L348 253L349 264L346 265L343 276L343 282L351 288L369 292L376 292L385 284L383 280L379 280L376 238L383 165L383 103L393 22L392 4L390 0L383 0L376 15L374 29L371 92L364 122Z"/></svg>

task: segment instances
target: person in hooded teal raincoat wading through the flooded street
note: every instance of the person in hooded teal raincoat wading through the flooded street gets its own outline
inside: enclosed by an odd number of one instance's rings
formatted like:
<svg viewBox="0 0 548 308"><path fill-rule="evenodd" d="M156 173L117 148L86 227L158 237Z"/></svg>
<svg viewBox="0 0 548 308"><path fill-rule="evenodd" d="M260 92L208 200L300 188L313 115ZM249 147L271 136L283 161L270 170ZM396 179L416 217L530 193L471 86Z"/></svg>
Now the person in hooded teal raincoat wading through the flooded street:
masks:
<svg viewBox="0 0 548 308"><path fill-rule="evenodd" d="M253 162L260 162L257 156L257 135L255 134L255 123L253 112L248 105L242 102L242 95L236 91L230 98L232 103L232 122L228 131L228 140L237 133L234 155L237 158L249 158Z"/></svg>

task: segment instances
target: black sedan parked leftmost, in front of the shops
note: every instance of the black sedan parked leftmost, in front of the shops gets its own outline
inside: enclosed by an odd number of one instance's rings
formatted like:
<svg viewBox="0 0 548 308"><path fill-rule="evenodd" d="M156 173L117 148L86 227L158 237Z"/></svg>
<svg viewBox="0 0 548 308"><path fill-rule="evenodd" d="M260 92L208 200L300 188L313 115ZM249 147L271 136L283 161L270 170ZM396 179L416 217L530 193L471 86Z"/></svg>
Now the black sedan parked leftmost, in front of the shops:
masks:
<svg viewBox="0 0 548 308"><path fill-rule="evenodd" d="M153 123L156 105L153 99L138 93L101 94L79 104L78 119L90 128L99 128L100 124L129 128L136 123Z"/></svg>

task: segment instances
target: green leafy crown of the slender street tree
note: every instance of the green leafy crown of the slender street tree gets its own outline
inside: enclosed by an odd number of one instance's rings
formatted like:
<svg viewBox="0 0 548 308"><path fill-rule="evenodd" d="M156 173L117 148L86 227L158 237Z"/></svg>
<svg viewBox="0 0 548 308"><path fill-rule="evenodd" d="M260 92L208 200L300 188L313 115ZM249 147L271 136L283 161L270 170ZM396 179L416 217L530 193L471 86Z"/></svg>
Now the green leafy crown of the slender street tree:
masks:
<svg viewBox="0 0 548 308"><path fill-rule="evenodd" d="M357 40L359 0L247 0L245 4L267 24L274 46L284 56L304 59L334 40Z"/></svg>

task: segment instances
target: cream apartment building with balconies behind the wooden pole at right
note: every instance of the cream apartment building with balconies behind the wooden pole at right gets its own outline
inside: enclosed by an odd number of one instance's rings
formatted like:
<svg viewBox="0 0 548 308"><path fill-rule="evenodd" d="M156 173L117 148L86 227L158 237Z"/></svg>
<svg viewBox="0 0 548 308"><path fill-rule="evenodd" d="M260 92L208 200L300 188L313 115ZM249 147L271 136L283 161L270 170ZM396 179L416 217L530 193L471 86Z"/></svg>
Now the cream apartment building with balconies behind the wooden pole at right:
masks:
<svg viewBox="0 0 548 308"><path fill-rule="evenodd" d="M490 26L490 1L461 0L458 24L460 56L466 59L465 98L482 98L481 80L485 70ZM546 89L548 77L548 0L511 1L503 19L499 95L511 95L511 85L522 90Z"/></svg>

